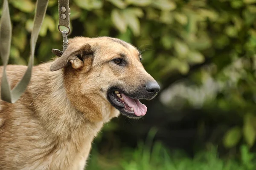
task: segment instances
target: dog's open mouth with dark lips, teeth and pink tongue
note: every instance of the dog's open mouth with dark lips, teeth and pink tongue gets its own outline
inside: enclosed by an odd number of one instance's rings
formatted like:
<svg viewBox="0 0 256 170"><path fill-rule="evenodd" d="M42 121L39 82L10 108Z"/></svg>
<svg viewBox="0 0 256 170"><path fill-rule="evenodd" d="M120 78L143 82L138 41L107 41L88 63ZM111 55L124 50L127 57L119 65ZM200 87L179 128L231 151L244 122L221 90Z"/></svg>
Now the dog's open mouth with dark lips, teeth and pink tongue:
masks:
<svg viewBox="0 0 256 170"><path fill-rule="evenodd" d="M119 91L110 92L109 99L111 104L125 116L140 117L147 112L147 107L140 103L138 99L130 98Z"/></svg>

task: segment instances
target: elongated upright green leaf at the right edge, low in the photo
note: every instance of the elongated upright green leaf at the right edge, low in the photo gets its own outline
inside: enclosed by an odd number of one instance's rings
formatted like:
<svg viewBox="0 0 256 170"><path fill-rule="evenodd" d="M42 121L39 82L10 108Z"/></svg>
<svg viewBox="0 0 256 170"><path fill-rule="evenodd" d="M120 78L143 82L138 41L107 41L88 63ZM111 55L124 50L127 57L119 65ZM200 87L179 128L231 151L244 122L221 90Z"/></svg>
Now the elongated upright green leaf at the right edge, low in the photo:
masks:
<svg viewBox="0 0 256 170"><path fill-rule="evenodd" d="M251 114L247 114L244 117L244 128L243 128L244 139L250 147L253 146L255 142L255 137L256 137L256 132L253 127L255 122L253 122L253 120L254 118L253 118L253 115Z"/></svg>

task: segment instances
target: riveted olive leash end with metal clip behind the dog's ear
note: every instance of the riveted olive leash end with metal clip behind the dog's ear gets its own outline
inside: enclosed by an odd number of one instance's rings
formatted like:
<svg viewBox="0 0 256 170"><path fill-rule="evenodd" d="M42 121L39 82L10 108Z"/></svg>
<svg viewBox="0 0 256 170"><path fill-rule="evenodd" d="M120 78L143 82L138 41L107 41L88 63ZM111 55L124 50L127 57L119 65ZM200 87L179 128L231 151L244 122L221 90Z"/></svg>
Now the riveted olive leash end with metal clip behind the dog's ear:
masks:
<svg viewBox="0 0 256 170"><path fill-rule="evenodd" d="M63 41L62 41L62 46L63 46L63 51L59 49L52 49L52 53L57 56L61 56L63 52L67 49L68 46L68 39L67 35L70 33L70 8L69 8L69 0L58 0L58 14L59 14L59 25L58 25L58 30L61 32ZM65 26L68 28L68 31L66 30L61 30L60 26Z"/></svg>

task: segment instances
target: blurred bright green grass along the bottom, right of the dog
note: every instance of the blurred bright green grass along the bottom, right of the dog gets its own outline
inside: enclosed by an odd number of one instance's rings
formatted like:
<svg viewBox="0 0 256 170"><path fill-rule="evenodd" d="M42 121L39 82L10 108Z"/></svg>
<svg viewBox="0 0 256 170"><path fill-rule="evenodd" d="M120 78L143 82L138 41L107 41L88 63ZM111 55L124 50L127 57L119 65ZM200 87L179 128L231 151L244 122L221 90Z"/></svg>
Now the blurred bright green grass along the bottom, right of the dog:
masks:
<svg viewBox="0 0 256 170"><path fill-rule="evenodd" d="M216 147L189 158L180 151L170 153L159 142L151 144L154 133L152 130L135 150L125 148L105 155L93 150L87 170L256 170L256 156L246 146L241 147L240 159L221 159Z"/></svg>

